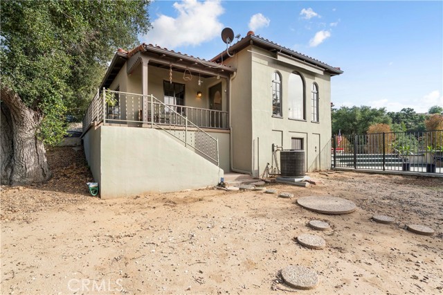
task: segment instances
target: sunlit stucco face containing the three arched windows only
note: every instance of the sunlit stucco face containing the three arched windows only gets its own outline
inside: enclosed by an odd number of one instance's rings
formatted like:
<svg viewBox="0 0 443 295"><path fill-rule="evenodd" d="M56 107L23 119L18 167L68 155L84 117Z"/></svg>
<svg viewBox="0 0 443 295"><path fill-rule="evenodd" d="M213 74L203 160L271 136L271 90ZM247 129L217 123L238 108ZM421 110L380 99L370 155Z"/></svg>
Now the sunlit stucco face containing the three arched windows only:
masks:
<svg viewBox="0 0 443 295"><path fill-rule="evenodd" d="M251 117L253 147L253 175L261 175L266 163L271 163L271 146L291 149L291 138L303 138L305 167L309 170L327 169L330 160L330 76L327 73L309 71L309 66L275 60L275 55L253 46L251 48ZM268 57L266 57L268 56ZM272 74L282 75L282 118L272 115ZM289 118L288 80L294 71L302 75L305 84L305 120ZM319 122L311 122L311 85L318 84ZM281 138L280 138L281 137ZM260 143L260 146L258 144ZM323 154L321 154L323 152ZM325 154L327 152L327 154ZM330 157L330 156L329 156ZM260 170L260 171L259 171Z"/></svg>

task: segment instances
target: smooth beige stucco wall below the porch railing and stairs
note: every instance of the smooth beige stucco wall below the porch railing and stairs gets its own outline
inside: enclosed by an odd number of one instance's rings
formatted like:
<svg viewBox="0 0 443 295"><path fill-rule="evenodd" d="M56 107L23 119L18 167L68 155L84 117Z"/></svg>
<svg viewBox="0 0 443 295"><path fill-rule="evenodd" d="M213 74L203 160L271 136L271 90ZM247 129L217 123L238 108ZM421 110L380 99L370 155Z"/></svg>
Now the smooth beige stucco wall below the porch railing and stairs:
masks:
<svg viewBox="0 0 443 295"><path fill-rule="evenodd" d="M101 126L84 140L103 199L215 186L224 175L157 129Z"/></svg>

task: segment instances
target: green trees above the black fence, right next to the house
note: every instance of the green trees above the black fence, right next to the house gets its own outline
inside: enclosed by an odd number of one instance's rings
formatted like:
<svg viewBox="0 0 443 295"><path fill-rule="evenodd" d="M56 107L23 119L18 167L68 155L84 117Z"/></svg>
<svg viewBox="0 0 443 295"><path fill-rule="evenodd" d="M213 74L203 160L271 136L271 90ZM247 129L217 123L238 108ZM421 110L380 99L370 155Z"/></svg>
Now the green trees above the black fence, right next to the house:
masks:
<svg viewBox="0 0 443 295"><path fill-rule="evenodd" d="M390 124L390 117L386 114L386 109L361 107L341 107L332 109L332 134L365 134L371 125Z"/></svg>

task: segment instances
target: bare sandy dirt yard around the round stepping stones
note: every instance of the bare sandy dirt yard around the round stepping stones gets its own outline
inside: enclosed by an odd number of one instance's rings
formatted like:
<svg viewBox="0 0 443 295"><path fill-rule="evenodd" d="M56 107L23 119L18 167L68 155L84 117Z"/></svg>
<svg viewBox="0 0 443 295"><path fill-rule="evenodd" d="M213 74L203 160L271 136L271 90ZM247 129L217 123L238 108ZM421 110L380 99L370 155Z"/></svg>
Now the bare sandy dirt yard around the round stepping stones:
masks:
<svg viewBox="0 0 443 295"><path fill-rule="evenodd" d="M212 188L129 199L91 197L82 150L50 150L47 184L1 190L1 294L442 294L443 179L356 172L320 175L292 199ZM148 181L148 180L147 180ZM296 199L330 195L346 215L307 211ZM372 215L396 218L379 224ZM314 231L309 220L329 222ZM410 233L405 224L435 230ZM325 249L302 247L302 233ZM288 265L318 273L291 289Z"/></svg>

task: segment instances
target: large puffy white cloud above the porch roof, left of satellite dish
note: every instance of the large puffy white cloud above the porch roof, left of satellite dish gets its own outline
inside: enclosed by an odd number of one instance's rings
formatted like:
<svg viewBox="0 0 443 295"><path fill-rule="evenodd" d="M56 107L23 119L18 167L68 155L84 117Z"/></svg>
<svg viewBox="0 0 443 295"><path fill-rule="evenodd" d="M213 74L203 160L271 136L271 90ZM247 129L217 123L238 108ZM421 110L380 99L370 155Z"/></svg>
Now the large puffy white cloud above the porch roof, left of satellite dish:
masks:
<svg viewBox="0 0 443 295"><path fill-rule="evenodd" d="M183 0L173 6L178 16L159 15L152 22L154 28L141 37L142 42L173 49L197 46L220 35L223 24L219 16L224 12L220 0Z"/></svg>

